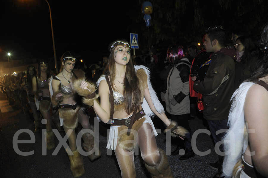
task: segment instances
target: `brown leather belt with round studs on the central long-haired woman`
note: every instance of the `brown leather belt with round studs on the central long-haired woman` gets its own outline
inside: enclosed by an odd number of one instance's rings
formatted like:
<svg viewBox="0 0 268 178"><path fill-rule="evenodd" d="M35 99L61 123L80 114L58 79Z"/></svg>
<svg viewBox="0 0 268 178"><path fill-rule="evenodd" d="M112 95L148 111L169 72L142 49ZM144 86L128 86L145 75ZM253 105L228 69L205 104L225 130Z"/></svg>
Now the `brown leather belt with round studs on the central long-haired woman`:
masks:
<svg viewBox="0 0 268 178"><path fill-rule="evenodd" d="M135 118L134 118L134 123L143 118L145 116L145 113L144 113L144 110L141 109L140 111L138 111L136 114L135 114ZM126 118L126 119L110 119L108 124L110 124L111 126L127 126L129 127L130 126L130 121L131 119L133 118L133 115Z"/></svg>

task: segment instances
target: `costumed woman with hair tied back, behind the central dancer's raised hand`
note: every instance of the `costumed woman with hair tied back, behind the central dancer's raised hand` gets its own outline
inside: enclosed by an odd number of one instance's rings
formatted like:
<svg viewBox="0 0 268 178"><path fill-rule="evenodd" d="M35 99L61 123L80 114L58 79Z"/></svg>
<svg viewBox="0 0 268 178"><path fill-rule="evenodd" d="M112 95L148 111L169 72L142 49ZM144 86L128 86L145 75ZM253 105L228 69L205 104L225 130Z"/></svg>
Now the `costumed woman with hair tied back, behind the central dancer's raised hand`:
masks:
<svg viewBox="0 0 268 178"><path fill-rule="evenodd" d="M83 160L77 150L75 128L78 122L83 129L91 129L91 125L88 115L85 113L85 108L82 108L81 104L78 103L80 102L79 96L74 92L72 84L77 79L85 79L85 73L82 70L74 69L76 58L69 51L61 56L60 61L62 64L60 72L50 80L50 94L53 107L58 107L60 126L63 126L66 134L70 134L68 141L72 153L68 150L66 152L70 159L73 176L79 177L85 173L85 169ZM95 153L88 155L89 159L93 161L100 157L99 149L94 147L94 136L90 133L84 133L82 138L85 151L95 150Z"/></svg>

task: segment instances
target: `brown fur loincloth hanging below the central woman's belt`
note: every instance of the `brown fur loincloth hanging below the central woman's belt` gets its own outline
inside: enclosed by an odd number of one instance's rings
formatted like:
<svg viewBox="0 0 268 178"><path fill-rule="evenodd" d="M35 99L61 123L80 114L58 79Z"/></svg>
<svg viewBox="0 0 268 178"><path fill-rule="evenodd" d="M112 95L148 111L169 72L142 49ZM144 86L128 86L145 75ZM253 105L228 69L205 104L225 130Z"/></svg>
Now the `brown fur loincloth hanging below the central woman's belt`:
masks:
<svg viewBox="0 0 268 178"><path fill-rule="evenodd" d="M128 151L132 151L133 149L135 149L138 146L138 142L137 142L138 130L144 121L145 121L145 117L134 122L129 136L127 136L127 129L128 129L127 126L118 127L119 147L121 147L125 150L128 150ZM129 143L129 142L131 142L131 143ZM132 143L132 142L134 142L134 143Z"/></svg>

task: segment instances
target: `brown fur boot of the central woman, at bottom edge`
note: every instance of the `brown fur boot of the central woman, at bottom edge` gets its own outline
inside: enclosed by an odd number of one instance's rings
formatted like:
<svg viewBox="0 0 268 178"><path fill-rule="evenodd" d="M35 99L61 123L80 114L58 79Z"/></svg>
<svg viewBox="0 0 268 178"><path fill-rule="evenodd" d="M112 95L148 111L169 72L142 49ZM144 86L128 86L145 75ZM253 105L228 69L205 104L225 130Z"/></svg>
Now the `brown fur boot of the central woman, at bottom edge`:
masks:
<svg viewBox="0 0 268 178"><path fill-rule="evenodd" d="M159 149L159 152L161 154L161 161L156 166L148 166L145 164L145 167L149 171L152 178L173 178L173 173L171 171L171 168L169 167L169 162L166 156L166 153L164 150Z"/></svg>

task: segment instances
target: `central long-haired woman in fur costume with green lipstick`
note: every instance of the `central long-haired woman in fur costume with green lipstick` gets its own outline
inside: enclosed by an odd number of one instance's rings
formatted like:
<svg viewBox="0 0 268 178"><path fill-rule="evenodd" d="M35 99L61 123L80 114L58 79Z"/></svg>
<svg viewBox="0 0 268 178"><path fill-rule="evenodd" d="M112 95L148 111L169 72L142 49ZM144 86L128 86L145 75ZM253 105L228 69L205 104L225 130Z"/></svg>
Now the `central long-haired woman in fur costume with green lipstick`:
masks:
<svg viewBox="0 0 268 178"><path fill-rule="evenodd" d="M173 177L165 152L158 150L158 134L149 116L155 114L179 135L184 136L187 130L177 128L166 117L152 89L148 68L134 67L129 43L117 40L111 43L109 51L104 75L97 81L99 94L95 94L94 84L85 81L75 82L75 89L84 103L93 106L102 122L111 125L107 148L114 150L123 178L135 177L133 149L137 146L152 177Z"/></svg>

